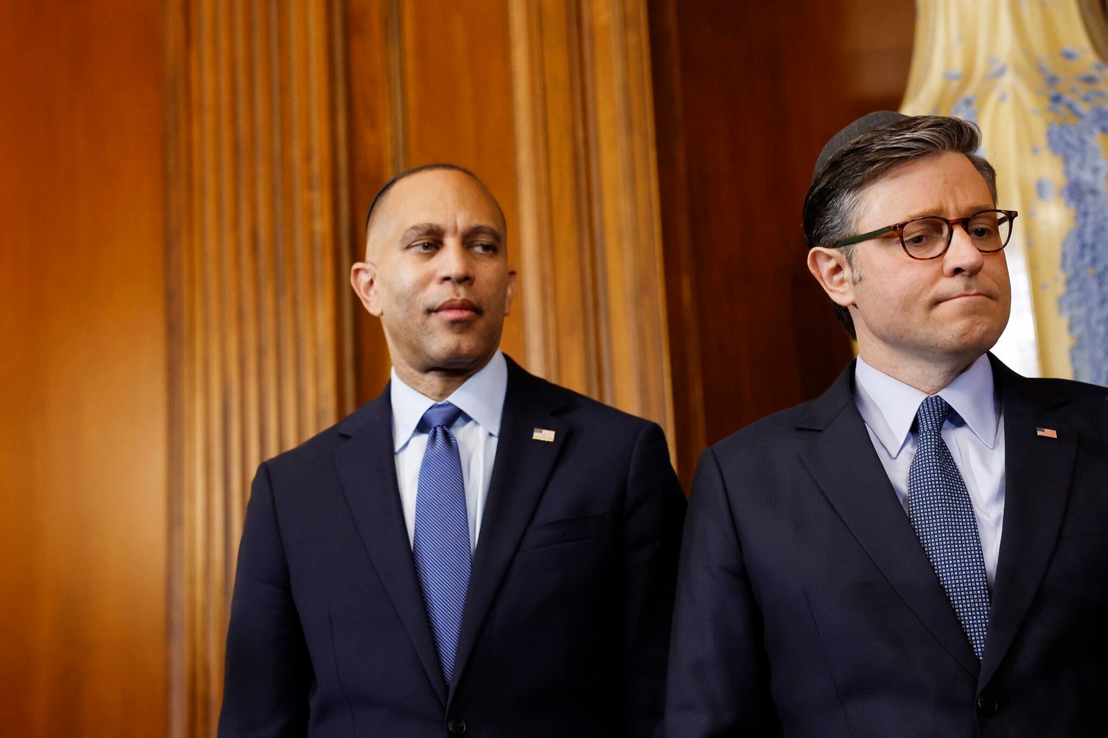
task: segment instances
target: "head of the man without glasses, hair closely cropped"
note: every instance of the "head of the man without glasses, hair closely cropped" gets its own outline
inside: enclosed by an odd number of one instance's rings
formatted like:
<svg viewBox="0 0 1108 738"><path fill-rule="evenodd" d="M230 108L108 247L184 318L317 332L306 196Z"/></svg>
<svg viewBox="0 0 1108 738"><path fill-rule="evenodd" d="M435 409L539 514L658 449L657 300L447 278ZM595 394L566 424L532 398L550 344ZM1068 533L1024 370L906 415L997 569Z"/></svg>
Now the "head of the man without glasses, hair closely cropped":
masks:
<svg viewBox="0 0 1108 738"><path fill-rule="evenodd" d="M492 195L454 170L398 182L378 204L355 289L381 319L398 370L472 372L500 345L515 293Z"/></svg>

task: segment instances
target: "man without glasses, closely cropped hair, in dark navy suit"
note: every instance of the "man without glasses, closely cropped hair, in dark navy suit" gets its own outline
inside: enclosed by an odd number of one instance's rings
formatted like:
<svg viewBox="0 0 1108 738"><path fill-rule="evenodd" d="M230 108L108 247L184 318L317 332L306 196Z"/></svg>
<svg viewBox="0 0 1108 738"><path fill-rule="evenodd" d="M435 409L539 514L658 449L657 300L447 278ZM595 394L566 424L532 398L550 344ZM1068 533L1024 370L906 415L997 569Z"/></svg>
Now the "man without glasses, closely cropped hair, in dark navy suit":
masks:
<svg viewBox="0 0 1108 738"><path fill-rule="evenodd" d="M500 352L515 273L471 173L398 175L367 234L392 380L258 470L219 735L653 735L685 510L661 430Z"/></svg>

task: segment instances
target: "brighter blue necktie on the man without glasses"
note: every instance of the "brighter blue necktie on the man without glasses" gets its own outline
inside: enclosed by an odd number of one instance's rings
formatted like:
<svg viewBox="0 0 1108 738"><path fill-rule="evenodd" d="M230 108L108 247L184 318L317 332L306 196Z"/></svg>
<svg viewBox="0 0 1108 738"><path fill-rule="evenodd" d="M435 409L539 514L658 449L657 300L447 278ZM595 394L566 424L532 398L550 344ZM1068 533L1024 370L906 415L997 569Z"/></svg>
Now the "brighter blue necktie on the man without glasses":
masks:
<svg viewBox="0 0 1108 738"><path fill-rule="evenodd" d="M428 433L416 493L412 555L434 632L442 675L450 684L470 582L470 526L458 439L450 432L462 411L449 402L431 406L419 422Z"/></svg>

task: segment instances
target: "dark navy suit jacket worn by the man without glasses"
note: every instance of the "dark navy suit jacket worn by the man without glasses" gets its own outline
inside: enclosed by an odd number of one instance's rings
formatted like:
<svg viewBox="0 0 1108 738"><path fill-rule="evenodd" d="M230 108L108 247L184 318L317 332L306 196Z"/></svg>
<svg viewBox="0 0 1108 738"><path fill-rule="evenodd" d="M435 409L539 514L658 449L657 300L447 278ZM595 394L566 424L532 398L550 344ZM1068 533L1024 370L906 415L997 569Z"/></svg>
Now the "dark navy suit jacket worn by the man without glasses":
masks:
<svg viewBox="0 0 1108 738"><path fill-rule="evenodd" d="M392 449L386 391L258 469L219 735L650 735L685 512L658 426L509 360L449 685Z"/></svg>

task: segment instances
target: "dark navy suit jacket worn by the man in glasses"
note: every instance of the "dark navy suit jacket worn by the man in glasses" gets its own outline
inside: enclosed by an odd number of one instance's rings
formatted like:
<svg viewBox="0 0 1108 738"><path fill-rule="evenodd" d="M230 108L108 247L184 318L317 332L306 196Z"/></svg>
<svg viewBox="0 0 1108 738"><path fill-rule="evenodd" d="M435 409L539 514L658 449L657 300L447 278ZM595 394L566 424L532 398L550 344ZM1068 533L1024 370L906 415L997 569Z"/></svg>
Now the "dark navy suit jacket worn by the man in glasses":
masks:
<svg viewBox="0 0 1108 738"><path fill-rule="evenodd" d="M1108 735L1108 390L995 358L993 373L1006 488L984 659L873 450L851 365L700 458L667 736Z"/></svg>

